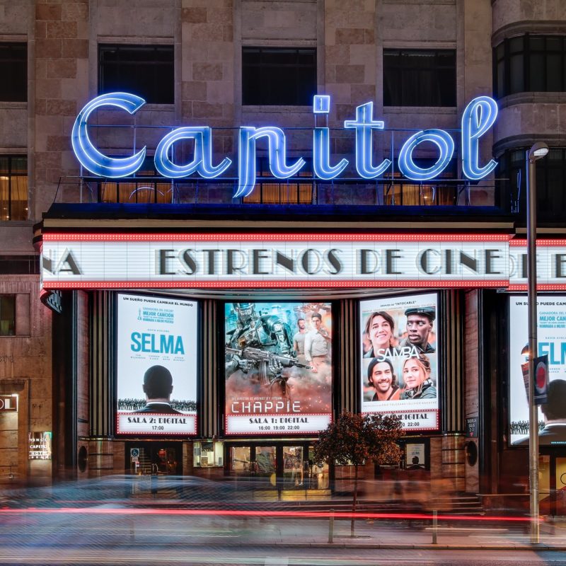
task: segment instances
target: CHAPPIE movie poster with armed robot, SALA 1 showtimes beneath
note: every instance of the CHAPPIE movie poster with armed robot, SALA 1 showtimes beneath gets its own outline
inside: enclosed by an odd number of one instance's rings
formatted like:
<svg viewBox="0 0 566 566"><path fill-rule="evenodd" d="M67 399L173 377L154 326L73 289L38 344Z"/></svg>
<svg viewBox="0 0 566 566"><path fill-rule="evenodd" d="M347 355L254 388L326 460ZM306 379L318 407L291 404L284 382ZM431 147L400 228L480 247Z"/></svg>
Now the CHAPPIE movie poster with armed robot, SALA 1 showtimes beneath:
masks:
<svg viewBox="0 0 566 566"><path fill-rule="evenodd" d="M225 305L226 434L311 434L332 417L330 303Z"/></svg>

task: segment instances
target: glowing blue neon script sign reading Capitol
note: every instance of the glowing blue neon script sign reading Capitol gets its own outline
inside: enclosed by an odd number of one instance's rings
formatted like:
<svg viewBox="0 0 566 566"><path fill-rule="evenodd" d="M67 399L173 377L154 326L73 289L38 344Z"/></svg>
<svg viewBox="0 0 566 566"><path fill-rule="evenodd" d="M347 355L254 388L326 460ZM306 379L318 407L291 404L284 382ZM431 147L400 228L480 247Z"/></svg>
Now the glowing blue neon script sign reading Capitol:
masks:
<svg viewBox="0 0 566 566"><path fill-rule="evenodd" d="M110 93L97 96L89 102L76 117L71 134L76 158L81 165L101 177L129 177L139 170L144 163L146 147L128 157L108 157L100 153L88 137L88 118L94 110L105 106L114 106L134 114L145 104L145 100L131 93ZM330 96L317 95L313 101L314 114L330 112ZM479 140L495 122L497 103L489 96L474 98L462 114L461 157L462 172L470 180L480 180L489 175L497 166L493 159L481 166L479 163ZM355 132L356 170L364 179L381 178L391 167L390 159L383 159L379 165L373 163L372 132L383 129L384 122L374 120L374 103L368 102L356 108L355 120L345 120L344 127ZM238 147L238 189L236 197L247 197L255 186L255 144L258 139L266 138L268 145L268 161L272 175L278 179L293 177L305 165L302 157L293 163L287 161L285 133L279 127L243 126L239 132ZM180 165L173 163L172 149L180 140L190 139L194 143L192 161ZM429 168L422 168L415 163L413 152L419 144L428 141L438 150L436 163ZM448 166L454 155L454 139L444 129L424 129L412 134L400 149L398 166L406 178L425 181L437 178ZM224 173L232 164L225 157L219 163L213 163L212 129L208 126L179 127L166 134L158 143L155 151L155 166L158 173L166 178L180 179L193 173L202 178L214 179ZM337 163L330 160L330 129L315 127L313 129L313 172L322 180L336 178L348 166L347 159Z"/></svg>

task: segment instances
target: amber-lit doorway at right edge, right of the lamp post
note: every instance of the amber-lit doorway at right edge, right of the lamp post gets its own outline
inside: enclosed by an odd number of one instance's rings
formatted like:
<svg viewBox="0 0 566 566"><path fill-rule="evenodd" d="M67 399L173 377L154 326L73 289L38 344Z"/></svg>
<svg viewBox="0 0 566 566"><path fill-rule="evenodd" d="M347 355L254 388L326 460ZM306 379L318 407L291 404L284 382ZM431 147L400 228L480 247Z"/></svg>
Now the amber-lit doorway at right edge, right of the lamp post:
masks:
<svg viewBox="0 0 566 566"><path fill-rule="evenodd" d="M566 514L566 454L541 449L538 458L539 506L543 515Z"/></svg>

